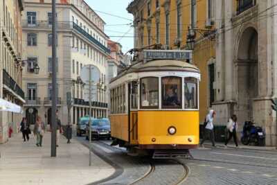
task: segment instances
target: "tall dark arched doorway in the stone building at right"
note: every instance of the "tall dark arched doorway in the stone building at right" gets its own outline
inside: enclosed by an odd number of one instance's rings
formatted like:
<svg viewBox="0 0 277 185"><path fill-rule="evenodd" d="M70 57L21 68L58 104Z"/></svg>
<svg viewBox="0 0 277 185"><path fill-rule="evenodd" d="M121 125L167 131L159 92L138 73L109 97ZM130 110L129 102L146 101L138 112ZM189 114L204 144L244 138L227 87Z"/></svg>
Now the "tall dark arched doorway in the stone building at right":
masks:
<svg viewBox="0 0 277 185"><path fill-rule="evenodd" d="M238 45L237 94L239 121L253 121L253 98L258 96L258 33L244 30Z"/></svg>

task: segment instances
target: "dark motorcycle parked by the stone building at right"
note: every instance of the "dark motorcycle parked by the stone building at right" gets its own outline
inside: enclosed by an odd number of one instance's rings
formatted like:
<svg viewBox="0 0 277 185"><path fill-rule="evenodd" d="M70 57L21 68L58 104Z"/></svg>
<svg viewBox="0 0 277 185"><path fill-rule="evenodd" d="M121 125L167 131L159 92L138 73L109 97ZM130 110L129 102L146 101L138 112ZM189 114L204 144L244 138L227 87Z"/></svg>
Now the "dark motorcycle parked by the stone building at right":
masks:
<svg viewBox="0 0 277 185"><path fill-rule="evenodd" d="M256 127L253 122L245 121L240 141L244 145L254 143L256 146L265 146L265 132L262 127Z"/></svg>

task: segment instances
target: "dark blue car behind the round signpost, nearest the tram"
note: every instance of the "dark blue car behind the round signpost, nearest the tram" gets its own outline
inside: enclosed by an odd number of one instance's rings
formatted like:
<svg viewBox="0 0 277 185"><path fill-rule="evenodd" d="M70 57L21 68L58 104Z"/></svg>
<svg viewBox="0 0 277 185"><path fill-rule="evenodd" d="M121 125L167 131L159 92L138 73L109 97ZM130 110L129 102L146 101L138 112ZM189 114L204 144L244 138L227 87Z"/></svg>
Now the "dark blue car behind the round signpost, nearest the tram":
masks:
<svg viewBox="0 0 277 185"><path fill-rule="evenodd" d="M91 124L91 139L110 139L111 123L108 118L95 118ZM86 139L89 139L89 125L86 127Z"/></svg>

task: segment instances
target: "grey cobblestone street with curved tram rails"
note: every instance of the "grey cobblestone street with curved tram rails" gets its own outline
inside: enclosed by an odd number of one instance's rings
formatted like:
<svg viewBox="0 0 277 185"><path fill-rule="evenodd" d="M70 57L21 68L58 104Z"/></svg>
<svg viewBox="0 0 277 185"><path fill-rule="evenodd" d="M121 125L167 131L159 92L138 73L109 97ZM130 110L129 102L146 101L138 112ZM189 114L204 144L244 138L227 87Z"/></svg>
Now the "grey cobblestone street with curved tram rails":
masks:
<svg viewBox="0 0 277 185"><path fill-rule="evenodd" d="M109 143L95 141L94 150L113 161L119 160L118 165L123 173L107 182L102 181L102 184L131 184L148 173L150 164L147 160L129 157L124 149L110 147ZM189 173L185 181L179 184L277 184L276 150L199 148L191 150L191 154L194 159L181 160L188 166ZM134 184L177 184L176 179L182 171L184 168L178 164L158 161L155 173Z"/></svg>

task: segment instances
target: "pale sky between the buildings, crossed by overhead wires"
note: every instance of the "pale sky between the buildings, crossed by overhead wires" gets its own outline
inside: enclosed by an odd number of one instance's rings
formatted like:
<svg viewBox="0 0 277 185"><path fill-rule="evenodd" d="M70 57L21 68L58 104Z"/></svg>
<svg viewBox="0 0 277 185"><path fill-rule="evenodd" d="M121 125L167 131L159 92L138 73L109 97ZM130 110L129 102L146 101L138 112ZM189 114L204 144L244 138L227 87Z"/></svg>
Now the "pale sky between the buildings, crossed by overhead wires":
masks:
<svg viewBox="0 0 277 185"><path fill-rule="evenodd" d="M89 6L105 21L105 33L123 46L123 53L134 47L134 30L131 28L133 16L126 10L132 0L85 0ZM111 15L116 15L114 17ZM125 19L121 19L123 17ZM115 25L125 24L125 25ZM129 24L129 25L126 25ZM125 35L125 37L121 37ZM112 37L116 36L116 37Z"/></svg>

